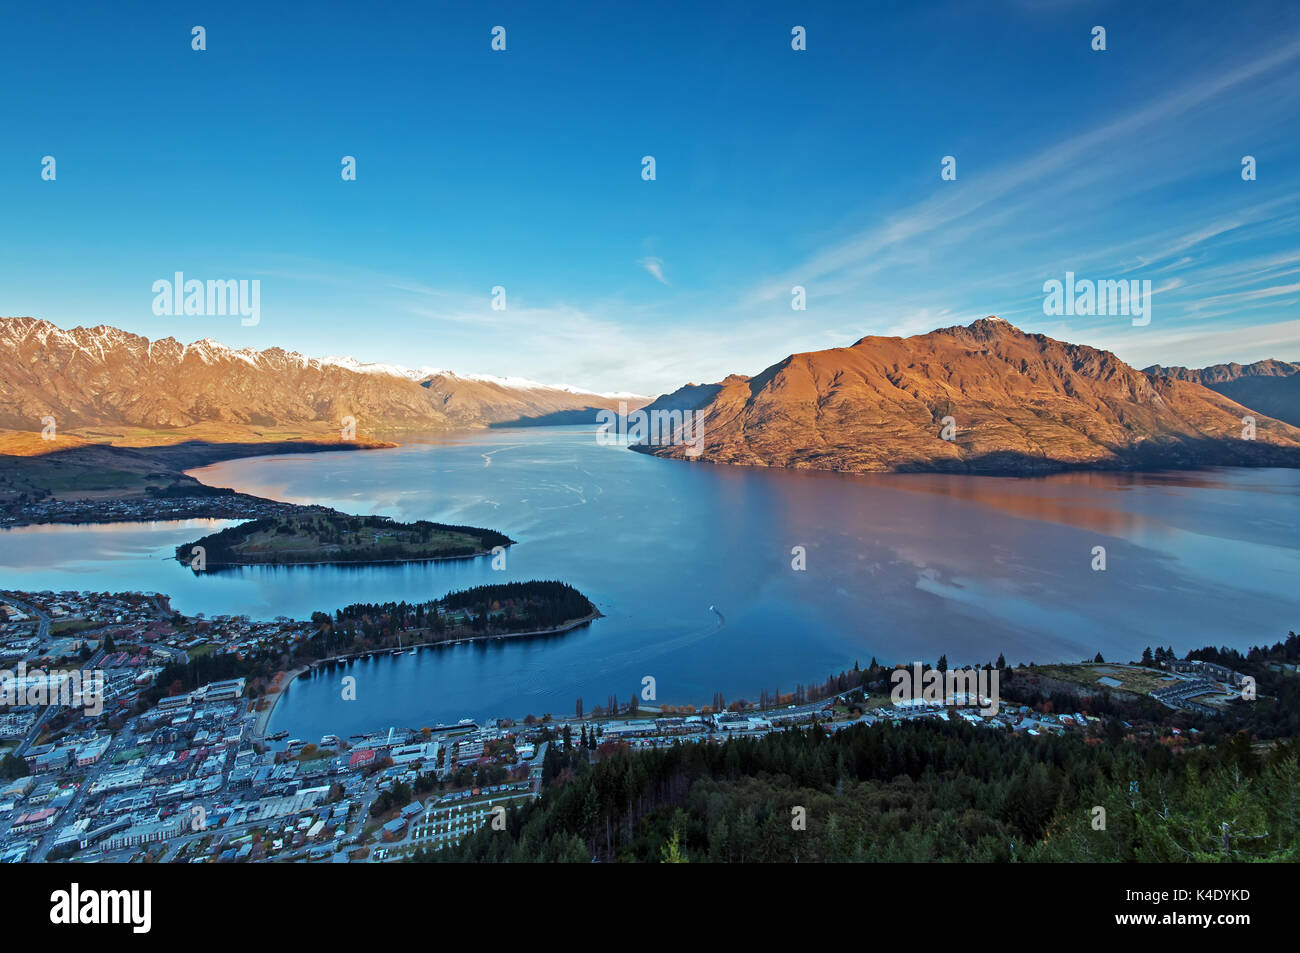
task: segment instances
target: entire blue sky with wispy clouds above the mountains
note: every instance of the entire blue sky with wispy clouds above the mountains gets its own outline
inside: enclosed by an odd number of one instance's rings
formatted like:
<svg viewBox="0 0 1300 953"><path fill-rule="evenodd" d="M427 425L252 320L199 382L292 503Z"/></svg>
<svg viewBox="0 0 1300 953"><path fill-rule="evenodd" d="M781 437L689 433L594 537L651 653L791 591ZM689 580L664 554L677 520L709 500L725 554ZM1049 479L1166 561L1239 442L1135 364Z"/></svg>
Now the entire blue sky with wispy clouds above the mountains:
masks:
<svg viewBox="0 0 1300 953"><path fill-rule="evenodd" d="M984 315L1300 360L1290 0L272 7L10 5L0 313L638 393ZM178 270L260 324L155 316ZM1066 270L1150 324L1045 316Z"/></svg>

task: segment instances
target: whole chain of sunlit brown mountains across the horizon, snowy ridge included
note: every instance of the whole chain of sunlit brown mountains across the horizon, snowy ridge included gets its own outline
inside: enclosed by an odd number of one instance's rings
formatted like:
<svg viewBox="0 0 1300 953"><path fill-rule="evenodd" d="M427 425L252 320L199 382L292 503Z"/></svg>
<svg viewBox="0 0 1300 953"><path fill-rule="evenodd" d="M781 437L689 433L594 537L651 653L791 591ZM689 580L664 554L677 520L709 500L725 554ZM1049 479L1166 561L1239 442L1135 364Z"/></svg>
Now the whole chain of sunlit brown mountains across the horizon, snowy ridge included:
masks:
<svg viewBox="0 0 1300 953"><path fill-rule="evenodd" d="M34 436L47 416L74 439L243 441L254 452L337 441L344 417L356 419L359 439L378 442L403 432L593 423L601 410L646 404L520 378L235 350L207 338L150 341L104 325L62 330L25 317L0 320L0 429L35 445L10 452L52 450ZM1297 420L1297 369L1261 361L1138 371L1109 351L988 317L689 384L645 410L690 411L699 442L637 449L842 472L1300 465L1300 429L1286 423Z"/></svg>

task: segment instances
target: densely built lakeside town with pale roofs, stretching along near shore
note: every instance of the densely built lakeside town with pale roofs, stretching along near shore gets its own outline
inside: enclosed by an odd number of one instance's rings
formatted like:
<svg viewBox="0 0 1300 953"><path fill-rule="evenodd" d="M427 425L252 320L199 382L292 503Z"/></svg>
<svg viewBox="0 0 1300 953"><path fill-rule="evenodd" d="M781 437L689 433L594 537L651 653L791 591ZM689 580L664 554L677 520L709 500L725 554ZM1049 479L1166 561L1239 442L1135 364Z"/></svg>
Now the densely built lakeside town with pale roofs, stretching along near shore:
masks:
<svg viewBox="0 0 1300 953"><path fill-rule="evenodd" d="M160 685L191 659L291 653L315 623L187 619L165 597L140 593L0 593L0 667L103 672L98 712L58 705L0 712L0 861L391 862L456 844L503 810L541 796L547 750L593 757L623 748L722 744L818 724L901 725L959 719L1041 736L1098 735L1104 718L1004 705L983 712L954 698L890 699L852 688L810 701L764 693L718 710L610 701L569 719L463 719L451 725L384 727L317 741L265 736L285 680L233 677ZM436 650L436 649L429 649ZM1126 672L1135 670L1130 676ZM1152 697L1170 711L1209 696L1231 698L1240 676L1222 666L1166 662ZM1106 666L1121 684L1156 675ZM1037 676L1036 676L1037 677ZM1202 701L1191 702L1192 697ZM1178 728L1119 725L1176 737ZM1195 729L1191 729L1195 735Z"/></svg>

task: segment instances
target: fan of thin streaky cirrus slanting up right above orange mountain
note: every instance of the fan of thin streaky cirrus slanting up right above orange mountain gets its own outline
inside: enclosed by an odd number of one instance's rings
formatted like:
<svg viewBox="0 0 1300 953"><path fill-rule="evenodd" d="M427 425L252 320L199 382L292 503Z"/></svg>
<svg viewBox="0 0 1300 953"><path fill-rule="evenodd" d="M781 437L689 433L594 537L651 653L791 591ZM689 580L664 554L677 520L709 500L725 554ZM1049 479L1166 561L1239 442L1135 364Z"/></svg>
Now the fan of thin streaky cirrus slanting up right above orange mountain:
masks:
<svg viewBox="0 0 1300 953"><path fill-rule="evenodd" d="M1256 142L1262 139L1275 126L1268 107L1279 73L1294 68L1297 59L1300 42L1243 56L1208 78L1067 134L1024 160L953 183L940 185L936 174L933 183L923 186L927 198L823 246L780 277L759 282L744 304L760 308L786 296L792 286L803 285L810 302L820 299L820 307L833 307L837 298L845 304L870 298L884 304L885 313L909 312L911 321L890 320L885 326L911 330L915 317L930 312L1024 309L1040 295L1044 280L1082 267L1106 277L1148 277L1158 267L1183 277L1176 285L1162 282L1161 290L1173 293L1196 280L1206 263L1219 265L1234 254L1258 251L1252 246L1290 228L1284 212L1295 202L1294 189L1269 198L1269 190L1278 189L1277 181L1245 183L1238 168L1213 165L1222 164L1213 151L1184 155L1188 151L1179 143L1195 138L1197 122L1219 122L1214 111L1228 105L1234 130L1245 125ZM1251 140L1252 135L1242 138ZM1205 178L1212 187L1204 185ZM1175 186L1186 198L1171 202ZM1249 203L1242 202L1243 187L1254 190L1245 194ZM1117 207L1135 213L1126 221L1114 212ZM1157 213L1138 212L1143 207L1154 207ZM1214 216L1208 224L1206 211ZM1132 225L1148 220L1164 220L1166 228L1134 237ZM1169 225L1171 221L1176 224ZM1117 244L1117 235L1124 241ZM909 257L919 263L909 264ZM984 263L996 270L980 268ZM1257 289L1243 299L1282 294L1286 291L1275 287ZM1186 313L1183 299L1166 295L1166 304L1176 308L1167 308L1165 320ZM1028 317L1035 317L1032 308ZM1041 315L1037 317L1041 324ZM1080 324L1065 330L1078 337L1095 328ZM1286 334L1268 339L1296 343Z"/></svg>

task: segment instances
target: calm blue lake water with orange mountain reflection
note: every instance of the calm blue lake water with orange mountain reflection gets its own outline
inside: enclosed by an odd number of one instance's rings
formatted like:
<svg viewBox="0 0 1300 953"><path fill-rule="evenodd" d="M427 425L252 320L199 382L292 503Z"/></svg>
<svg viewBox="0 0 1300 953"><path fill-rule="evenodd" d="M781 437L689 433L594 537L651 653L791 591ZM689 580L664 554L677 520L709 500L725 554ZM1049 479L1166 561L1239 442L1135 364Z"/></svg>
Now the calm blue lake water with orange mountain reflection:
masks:
<svg viewBox="0 0 1300 953"><path fill-rule="evenodd" d="M1035 480L711 467L599 446L590 428L493 430L396 450L255 458L217 486L346 512L490 527L489 559L195 576L177 543L221 521L0 532L0 585L143 589L182 612L306 618L560 579L604 614L566 636L467 644L300 679L272 728L316 740L389 724L567 715L654 676L660 702L755 699L881 662L1131 659L1244 647L1300 627L1300 472ZM792 568L803 547L806 569ZM1091 568L1104 546L1106 569Z"/></svg>

